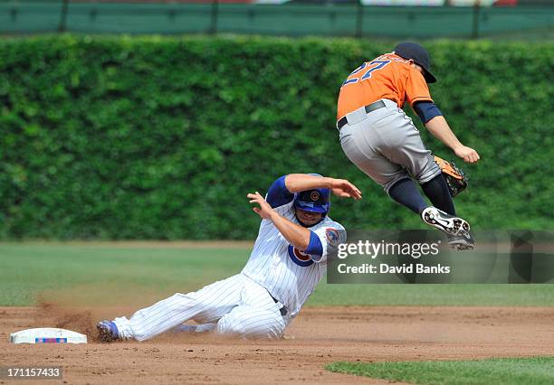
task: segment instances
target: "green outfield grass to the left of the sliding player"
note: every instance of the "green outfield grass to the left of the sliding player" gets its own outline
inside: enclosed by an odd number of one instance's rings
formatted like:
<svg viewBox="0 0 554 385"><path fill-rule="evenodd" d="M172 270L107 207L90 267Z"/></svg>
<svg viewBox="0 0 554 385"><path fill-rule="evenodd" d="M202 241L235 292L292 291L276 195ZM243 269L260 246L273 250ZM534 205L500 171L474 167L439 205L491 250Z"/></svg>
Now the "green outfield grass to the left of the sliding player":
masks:
<svg viewBox="0 0 554 385"><path fill-rule="evenodd" d="M37 298L56 296L71 303L134 305L144 296L190 291L230 277L246 258L245 249L0 244L0 305L33 305Z"/></svg>

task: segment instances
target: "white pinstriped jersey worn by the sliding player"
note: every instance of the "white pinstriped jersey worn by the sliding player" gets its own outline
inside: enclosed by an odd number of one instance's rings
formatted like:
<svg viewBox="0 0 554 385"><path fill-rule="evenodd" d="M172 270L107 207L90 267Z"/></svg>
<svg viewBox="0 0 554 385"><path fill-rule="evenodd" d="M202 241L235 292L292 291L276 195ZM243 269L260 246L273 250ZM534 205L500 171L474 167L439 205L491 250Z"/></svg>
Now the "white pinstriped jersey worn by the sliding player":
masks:
<svg viewBox="0 0 554 385"><path fill-rule="evenodd" d="M289 221L300 224L294 214L294 202L273 210ZM309 256L293 248L272 221L263 220L252 254L242 274L265 287L275 299L285 305L294 317L324 276L330 248L346 242L344 227L329 217L310 227L323 246L323 254Z"/></svg>

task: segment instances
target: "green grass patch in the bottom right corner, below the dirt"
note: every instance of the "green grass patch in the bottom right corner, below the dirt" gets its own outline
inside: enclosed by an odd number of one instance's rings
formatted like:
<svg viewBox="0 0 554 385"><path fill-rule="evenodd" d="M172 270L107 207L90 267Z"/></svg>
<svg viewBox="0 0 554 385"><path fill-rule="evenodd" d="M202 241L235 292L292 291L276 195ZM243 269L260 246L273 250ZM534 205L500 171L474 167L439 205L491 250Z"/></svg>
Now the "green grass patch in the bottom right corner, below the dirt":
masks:
<svg viewBox="0 0 554 385"><path fill-rule="evenodd" d="M554 357L442 362L335 362L326 369L425 385L554 383Z"/></svg>

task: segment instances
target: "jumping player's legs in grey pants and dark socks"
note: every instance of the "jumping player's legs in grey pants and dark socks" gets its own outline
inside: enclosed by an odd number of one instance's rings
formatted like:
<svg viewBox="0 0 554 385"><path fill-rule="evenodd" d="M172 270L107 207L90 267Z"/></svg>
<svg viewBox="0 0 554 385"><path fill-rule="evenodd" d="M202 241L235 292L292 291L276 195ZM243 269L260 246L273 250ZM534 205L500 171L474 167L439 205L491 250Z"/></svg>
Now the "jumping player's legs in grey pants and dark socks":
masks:
<svg viewBox="0 0 554 385"><path fill-rule="evenodd" d="M469 230L466 221L429 207L417 190L412 178L423 186L431 202L454 212L447 186L440 183L441 170L425 148L412 119L389 104L378 113L374 111L341 128L343 151L360 170L381 184L393 200L420 214L425 223L453 235L463 232L460 229Z"/></svg>

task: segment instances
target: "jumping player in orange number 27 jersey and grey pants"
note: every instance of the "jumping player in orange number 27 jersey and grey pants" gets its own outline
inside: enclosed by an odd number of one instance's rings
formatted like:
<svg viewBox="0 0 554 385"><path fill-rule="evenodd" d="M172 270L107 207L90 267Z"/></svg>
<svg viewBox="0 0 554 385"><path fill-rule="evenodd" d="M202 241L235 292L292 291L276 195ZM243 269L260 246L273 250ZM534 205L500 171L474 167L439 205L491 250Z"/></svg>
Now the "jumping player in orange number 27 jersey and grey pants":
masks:
<svg viewBox="0 0 554 385"><path fill-rule="evenodd" d="M402 110L407 100L433 136L463 161L477 162L477 152L460 143L431 99L427 83L435 81L429 54L415 42L401 42L394 52L364 62L340 88L340 145L349 160L393 200L443 230L453 248L473 249L469 223L456 216L440 168ZM414 181L433 206L425 202Z"/></svg>

